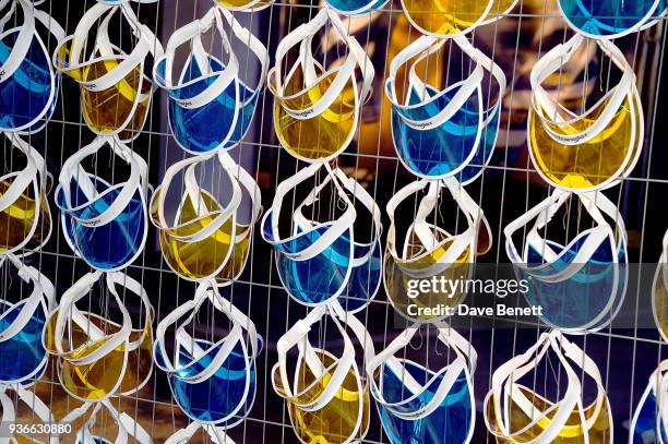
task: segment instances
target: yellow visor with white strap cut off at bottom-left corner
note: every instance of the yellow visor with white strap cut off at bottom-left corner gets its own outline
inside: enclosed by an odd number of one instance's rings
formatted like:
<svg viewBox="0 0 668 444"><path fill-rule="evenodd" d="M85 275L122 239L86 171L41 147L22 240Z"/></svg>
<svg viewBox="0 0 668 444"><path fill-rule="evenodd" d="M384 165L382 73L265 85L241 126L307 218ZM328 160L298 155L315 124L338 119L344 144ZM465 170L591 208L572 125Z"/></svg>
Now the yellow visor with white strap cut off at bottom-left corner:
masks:
<svg viewBox="0 0 668 444"><path fill-rule="evenodd" d="M23 404L25 409L17 409L19 403ZM0 409L4 433L10 431L9 424L16 425L13 433L0 437L1 444L58 444L58 440L49 436L48 432L38 432L44 429L48 430L49 425L56 421L49 407L32 391L20 384L12 385L11 388L3 387L0 389ZM29 431L31 428L32 433L21 433Z"/></svg>

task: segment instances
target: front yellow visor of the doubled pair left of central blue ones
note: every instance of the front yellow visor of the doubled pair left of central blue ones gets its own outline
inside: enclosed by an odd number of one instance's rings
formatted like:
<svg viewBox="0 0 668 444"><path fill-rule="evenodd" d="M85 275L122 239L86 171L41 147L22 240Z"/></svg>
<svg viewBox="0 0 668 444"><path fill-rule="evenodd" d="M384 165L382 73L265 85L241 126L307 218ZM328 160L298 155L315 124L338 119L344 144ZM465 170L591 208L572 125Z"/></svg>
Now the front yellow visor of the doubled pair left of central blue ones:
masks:
<svg viewBox="0 0 668 444"><path fill-rule="evenodd" d="M216 276L225 280L234 275L232 272L240 273L239 267L235 266L225 271L234 251L238 250L237 259L243 256L242 248L236 244L237 231L243 233L246 229L237 225L241 188L231 176L234 168L219 168L230 184L227 206L203 189L205 163L212 158L213 154L177 161L165 171L163 183L151 199L151 220L159 229L163 257L176 274L188 280ZM198 172L199 166L201 169ZM168 194L177 175L182 176L184 192L178 196L178 207L172 211L166 205L174 201L168 201ZM198 180L198 175L201 180ZM255 191L249 193L254 196Z"/></svg>

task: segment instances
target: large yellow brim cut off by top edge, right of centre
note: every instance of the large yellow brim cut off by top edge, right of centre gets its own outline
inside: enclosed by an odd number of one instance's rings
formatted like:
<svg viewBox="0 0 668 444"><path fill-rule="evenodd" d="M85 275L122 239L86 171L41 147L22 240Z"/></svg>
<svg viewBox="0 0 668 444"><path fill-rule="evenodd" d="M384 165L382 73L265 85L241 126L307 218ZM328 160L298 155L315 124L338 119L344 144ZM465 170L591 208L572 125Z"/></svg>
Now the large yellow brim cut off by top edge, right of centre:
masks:
<svg viewBox="0 0 668 444"><path fill-rule="evenodd" d="M403 5L409 20L419 28L431 34L451 35L466 31L485 19L489 2L490 0L403 0Z"/></svg>

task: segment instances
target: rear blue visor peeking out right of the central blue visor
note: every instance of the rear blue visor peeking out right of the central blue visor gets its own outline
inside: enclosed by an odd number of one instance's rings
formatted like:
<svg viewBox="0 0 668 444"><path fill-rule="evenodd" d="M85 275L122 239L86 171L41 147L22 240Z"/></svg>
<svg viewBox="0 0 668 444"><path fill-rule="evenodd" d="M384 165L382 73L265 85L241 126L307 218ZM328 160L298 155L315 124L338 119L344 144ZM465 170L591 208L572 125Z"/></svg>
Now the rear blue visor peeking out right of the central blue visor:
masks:
<svg viewBox="0 0 668 444"><path fill-rule="evenodd" d="M349 260L353 269L350 271L346 288L338 297L338 302L348 313L357 313L369 304L380 288L383 266L381 245L383 226L380 208L367 190L354 179L348 178L338 168L334 170L334 180L338 180L343 188L353 194L353 201L363 205L371 215L371 240L369 242L359 242L353 239L353 259ZM309 211L305 209L305 206L312 206L320 201L320 192L331 180L332 176L327 175L309 196L295 208L294 220L296 233L312 231L320 225L307 218L307 216L314 216L314 214L309 214ZM339 260L337 260L336 256L332 256L332 259L336 264L344 266L348 261L348 257L339 257ZM296 265L296 267L299 268L300 266ZM308 268L302 268L301 272L306 272L307 269ZM293 271L295 271L295 267L293 267ZM299 273L299 275L303 276L303 273ZM290 278L287 278L287 280L297 281L297 279ZM308 281L308 279L301 280L302 283Z"/></svg>

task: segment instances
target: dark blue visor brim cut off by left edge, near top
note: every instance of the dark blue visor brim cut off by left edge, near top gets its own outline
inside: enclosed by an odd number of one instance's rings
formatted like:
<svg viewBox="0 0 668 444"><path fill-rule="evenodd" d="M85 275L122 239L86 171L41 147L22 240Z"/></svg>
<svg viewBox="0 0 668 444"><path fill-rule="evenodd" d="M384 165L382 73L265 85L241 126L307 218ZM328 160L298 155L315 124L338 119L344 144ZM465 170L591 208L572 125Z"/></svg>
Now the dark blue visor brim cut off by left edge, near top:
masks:
<svg viewBox="0 0 668 444"><path fill-rule="evenodd" d="M20 29L0 36L0 65L12 52ZM40 129L56 107L58 82L50 57L35 35L19 68L0 82L0 130L33 132Z"/></svg>

